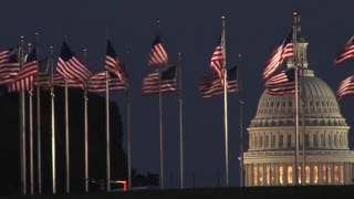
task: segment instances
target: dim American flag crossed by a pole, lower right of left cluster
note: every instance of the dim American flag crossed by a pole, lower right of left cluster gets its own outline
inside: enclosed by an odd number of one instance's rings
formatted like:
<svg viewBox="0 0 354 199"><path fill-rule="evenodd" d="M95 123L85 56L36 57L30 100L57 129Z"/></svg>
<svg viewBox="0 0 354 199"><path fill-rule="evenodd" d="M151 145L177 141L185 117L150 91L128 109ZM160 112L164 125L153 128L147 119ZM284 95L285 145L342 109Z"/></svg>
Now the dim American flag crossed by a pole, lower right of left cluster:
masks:
<svg viewBox="0 0 354 199"><path fill-rule="evenodd" d="M125 82L122 82L116 76L108 76L110 91L126 90ZM98 72L91 76L87 85L87 91L92 93L102 93L106 91L106 72Z"/></svg>

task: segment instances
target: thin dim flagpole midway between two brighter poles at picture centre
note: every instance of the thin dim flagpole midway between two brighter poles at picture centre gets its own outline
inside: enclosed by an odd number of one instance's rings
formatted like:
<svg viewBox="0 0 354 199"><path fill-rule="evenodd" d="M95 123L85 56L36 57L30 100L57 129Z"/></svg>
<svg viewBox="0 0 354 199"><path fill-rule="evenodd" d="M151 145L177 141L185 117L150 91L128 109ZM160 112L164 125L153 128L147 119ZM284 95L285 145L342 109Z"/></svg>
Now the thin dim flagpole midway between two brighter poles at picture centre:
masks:
<svg viewBox="0 0 354 199"><path fill-rule="evenodd" d="M184 189L184 129L183 129L183 90L181 90L181 53L178 53L178 105L179 105L179 169L180 169L180 189Z"/></svg>

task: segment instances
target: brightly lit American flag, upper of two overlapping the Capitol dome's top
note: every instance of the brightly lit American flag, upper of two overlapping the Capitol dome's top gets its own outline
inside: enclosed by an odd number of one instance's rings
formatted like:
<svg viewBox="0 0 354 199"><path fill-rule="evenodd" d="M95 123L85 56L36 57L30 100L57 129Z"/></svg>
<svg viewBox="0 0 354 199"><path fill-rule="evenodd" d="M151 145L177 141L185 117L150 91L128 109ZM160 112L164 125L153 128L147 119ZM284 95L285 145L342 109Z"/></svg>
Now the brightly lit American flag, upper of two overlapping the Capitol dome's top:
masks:
<svg viewBox="0 0 354 199"><path fill-rule="evenodd" d="M271 57L267 61L263 70L263 80L268 80L271 75L284 63L288 57L294 55L292 32L290 31L287 38L282 41L280 46L272 53Z"/></svg>

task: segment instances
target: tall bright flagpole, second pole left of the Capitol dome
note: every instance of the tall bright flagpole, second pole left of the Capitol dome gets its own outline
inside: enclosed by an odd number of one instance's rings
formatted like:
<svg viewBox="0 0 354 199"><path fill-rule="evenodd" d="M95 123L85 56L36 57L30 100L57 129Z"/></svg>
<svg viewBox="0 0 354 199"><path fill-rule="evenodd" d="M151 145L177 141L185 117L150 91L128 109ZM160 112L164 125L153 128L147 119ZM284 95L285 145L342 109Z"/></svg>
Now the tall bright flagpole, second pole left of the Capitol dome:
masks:
<svg viewBox="0 0 354 199"><path fill-rule="evenodd" d="M227 91L227 67L226 67L226 41L225 41L225 17L222 21L222 70L223 70L223 127L225 127L225 169L226 169L226 186L229 186L229 138L228 138L228 91Z"/></svg>

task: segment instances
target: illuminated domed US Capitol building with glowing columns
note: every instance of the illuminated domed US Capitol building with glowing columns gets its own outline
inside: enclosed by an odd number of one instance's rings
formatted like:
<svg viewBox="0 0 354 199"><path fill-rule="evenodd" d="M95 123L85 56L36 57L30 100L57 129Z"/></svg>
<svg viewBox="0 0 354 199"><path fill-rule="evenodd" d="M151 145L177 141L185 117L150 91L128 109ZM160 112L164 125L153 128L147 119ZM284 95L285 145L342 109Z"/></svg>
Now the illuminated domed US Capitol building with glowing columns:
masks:
<svg viewBox="0 0 354 199"><path fill-rule="evenodd" d="M353 184L354 151L348 148L350 126L341 115L331 87L309 69L306 48L308 43L300 39L298 182ZM288 67L292 66L289 61ZM293 96L274 96L266 91L261 95L256 117L248 127L249 149L243 154L244 186L295 184L294 107Z"/></svg>

